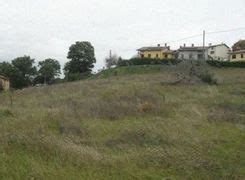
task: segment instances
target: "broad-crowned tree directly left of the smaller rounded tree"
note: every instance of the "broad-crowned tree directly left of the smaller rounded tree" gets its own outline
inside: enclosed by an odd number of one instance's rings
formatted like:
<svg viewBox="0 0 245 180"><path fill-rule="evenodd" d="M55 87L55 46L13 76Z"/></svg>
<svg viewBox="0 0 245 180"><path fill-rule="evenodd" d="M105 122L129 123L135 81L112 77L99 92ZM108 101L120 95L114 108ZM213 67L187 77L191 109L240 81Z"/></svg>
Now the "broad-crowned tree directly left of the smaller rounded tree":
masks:
<svg viewBox="0 0 245 180"><path fill-rule="evenodd" d="M12 60L12 65L20 73L20 79L23 87L32 84L33 79L37 75L37 69L34 66L35 60L30 56L17 57Z"/></svg>

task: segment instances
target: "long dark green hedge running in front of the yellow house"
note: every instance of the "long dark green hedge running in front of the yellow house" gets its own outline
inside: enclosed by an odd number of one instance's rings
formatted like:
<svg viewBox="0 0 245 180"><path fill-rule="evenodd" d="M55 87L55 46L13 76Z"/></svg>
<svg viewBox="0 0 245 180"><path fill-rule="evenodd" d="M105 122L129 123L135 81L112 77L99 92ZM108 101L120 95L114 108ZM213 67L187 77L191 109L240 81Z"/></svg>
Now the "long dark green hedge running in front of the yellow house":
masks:
<svg viewBox="0 0 245 180"><path fill-rule="evenodd" d="M151 59L151 58L132 58L129 60L118 61L118 66L135 66L135 65L164 65L178 64L180 60L176 59Z"/></svg>

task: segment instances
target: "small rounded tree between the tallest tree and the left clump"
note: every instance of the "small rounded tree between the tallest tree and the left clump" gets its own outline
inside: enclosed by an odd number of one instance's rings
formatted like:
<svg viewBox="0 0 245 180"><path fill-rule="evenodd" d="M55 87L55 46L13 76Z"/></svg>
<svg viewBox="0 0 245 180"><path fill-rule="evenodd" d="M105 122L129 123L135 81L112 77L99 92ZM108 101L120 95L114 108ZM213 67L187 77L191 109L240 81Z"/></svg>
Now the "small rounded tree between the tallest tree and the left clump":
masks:
<svg viewBox="0 0 245 180"><path fill-rule="evenodd" d="M39 79L41 79L44 84L50 83L60 75L60 63L55 59L40 61L38 66Z"/></svg>

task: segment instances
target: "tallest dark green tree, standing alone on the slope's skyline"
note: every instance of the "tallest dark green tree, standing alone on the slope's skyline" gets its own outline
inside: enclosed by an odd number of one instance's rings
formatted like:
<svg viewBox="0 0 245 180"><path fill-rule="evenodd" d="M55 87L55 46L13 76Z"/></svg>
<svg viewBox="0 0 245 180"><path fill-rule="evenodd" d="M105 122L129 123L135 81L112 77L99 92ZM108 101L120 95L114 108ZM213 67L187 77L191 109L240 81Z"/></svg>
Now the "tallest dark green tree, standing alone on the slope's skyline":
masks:
<svg viewBox="0 0 245 180"><path fill-rule="evenodd" d="M72 44L67 58L70 61L65 64L64 70L68 80L74 74L79 76L84 73L90 73L94 63L96 63L94 47L87 41Z"/></svg>

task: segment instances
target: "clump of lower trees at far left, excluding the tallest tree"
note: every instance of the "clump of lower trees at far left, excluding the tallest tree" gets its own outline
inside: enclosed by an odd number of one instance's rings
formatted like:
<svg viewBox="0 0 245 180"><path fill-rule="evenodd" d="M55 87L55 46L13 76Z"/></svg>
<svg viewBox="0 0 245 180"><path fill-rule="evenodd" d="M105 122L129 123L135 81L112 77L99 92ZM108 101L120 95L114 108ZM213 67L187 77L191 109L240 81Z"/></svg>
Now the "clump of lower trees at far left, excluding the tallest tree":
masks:
<svg viewBox="0 0 245 180"><path fill-rule="evenodd" d="M0 63L0 74L10 79L11 87L19 89L33 84L51 83L60 74L60 64L55 59L45 59L35 65L30 56L18 57Z"/></svg>

